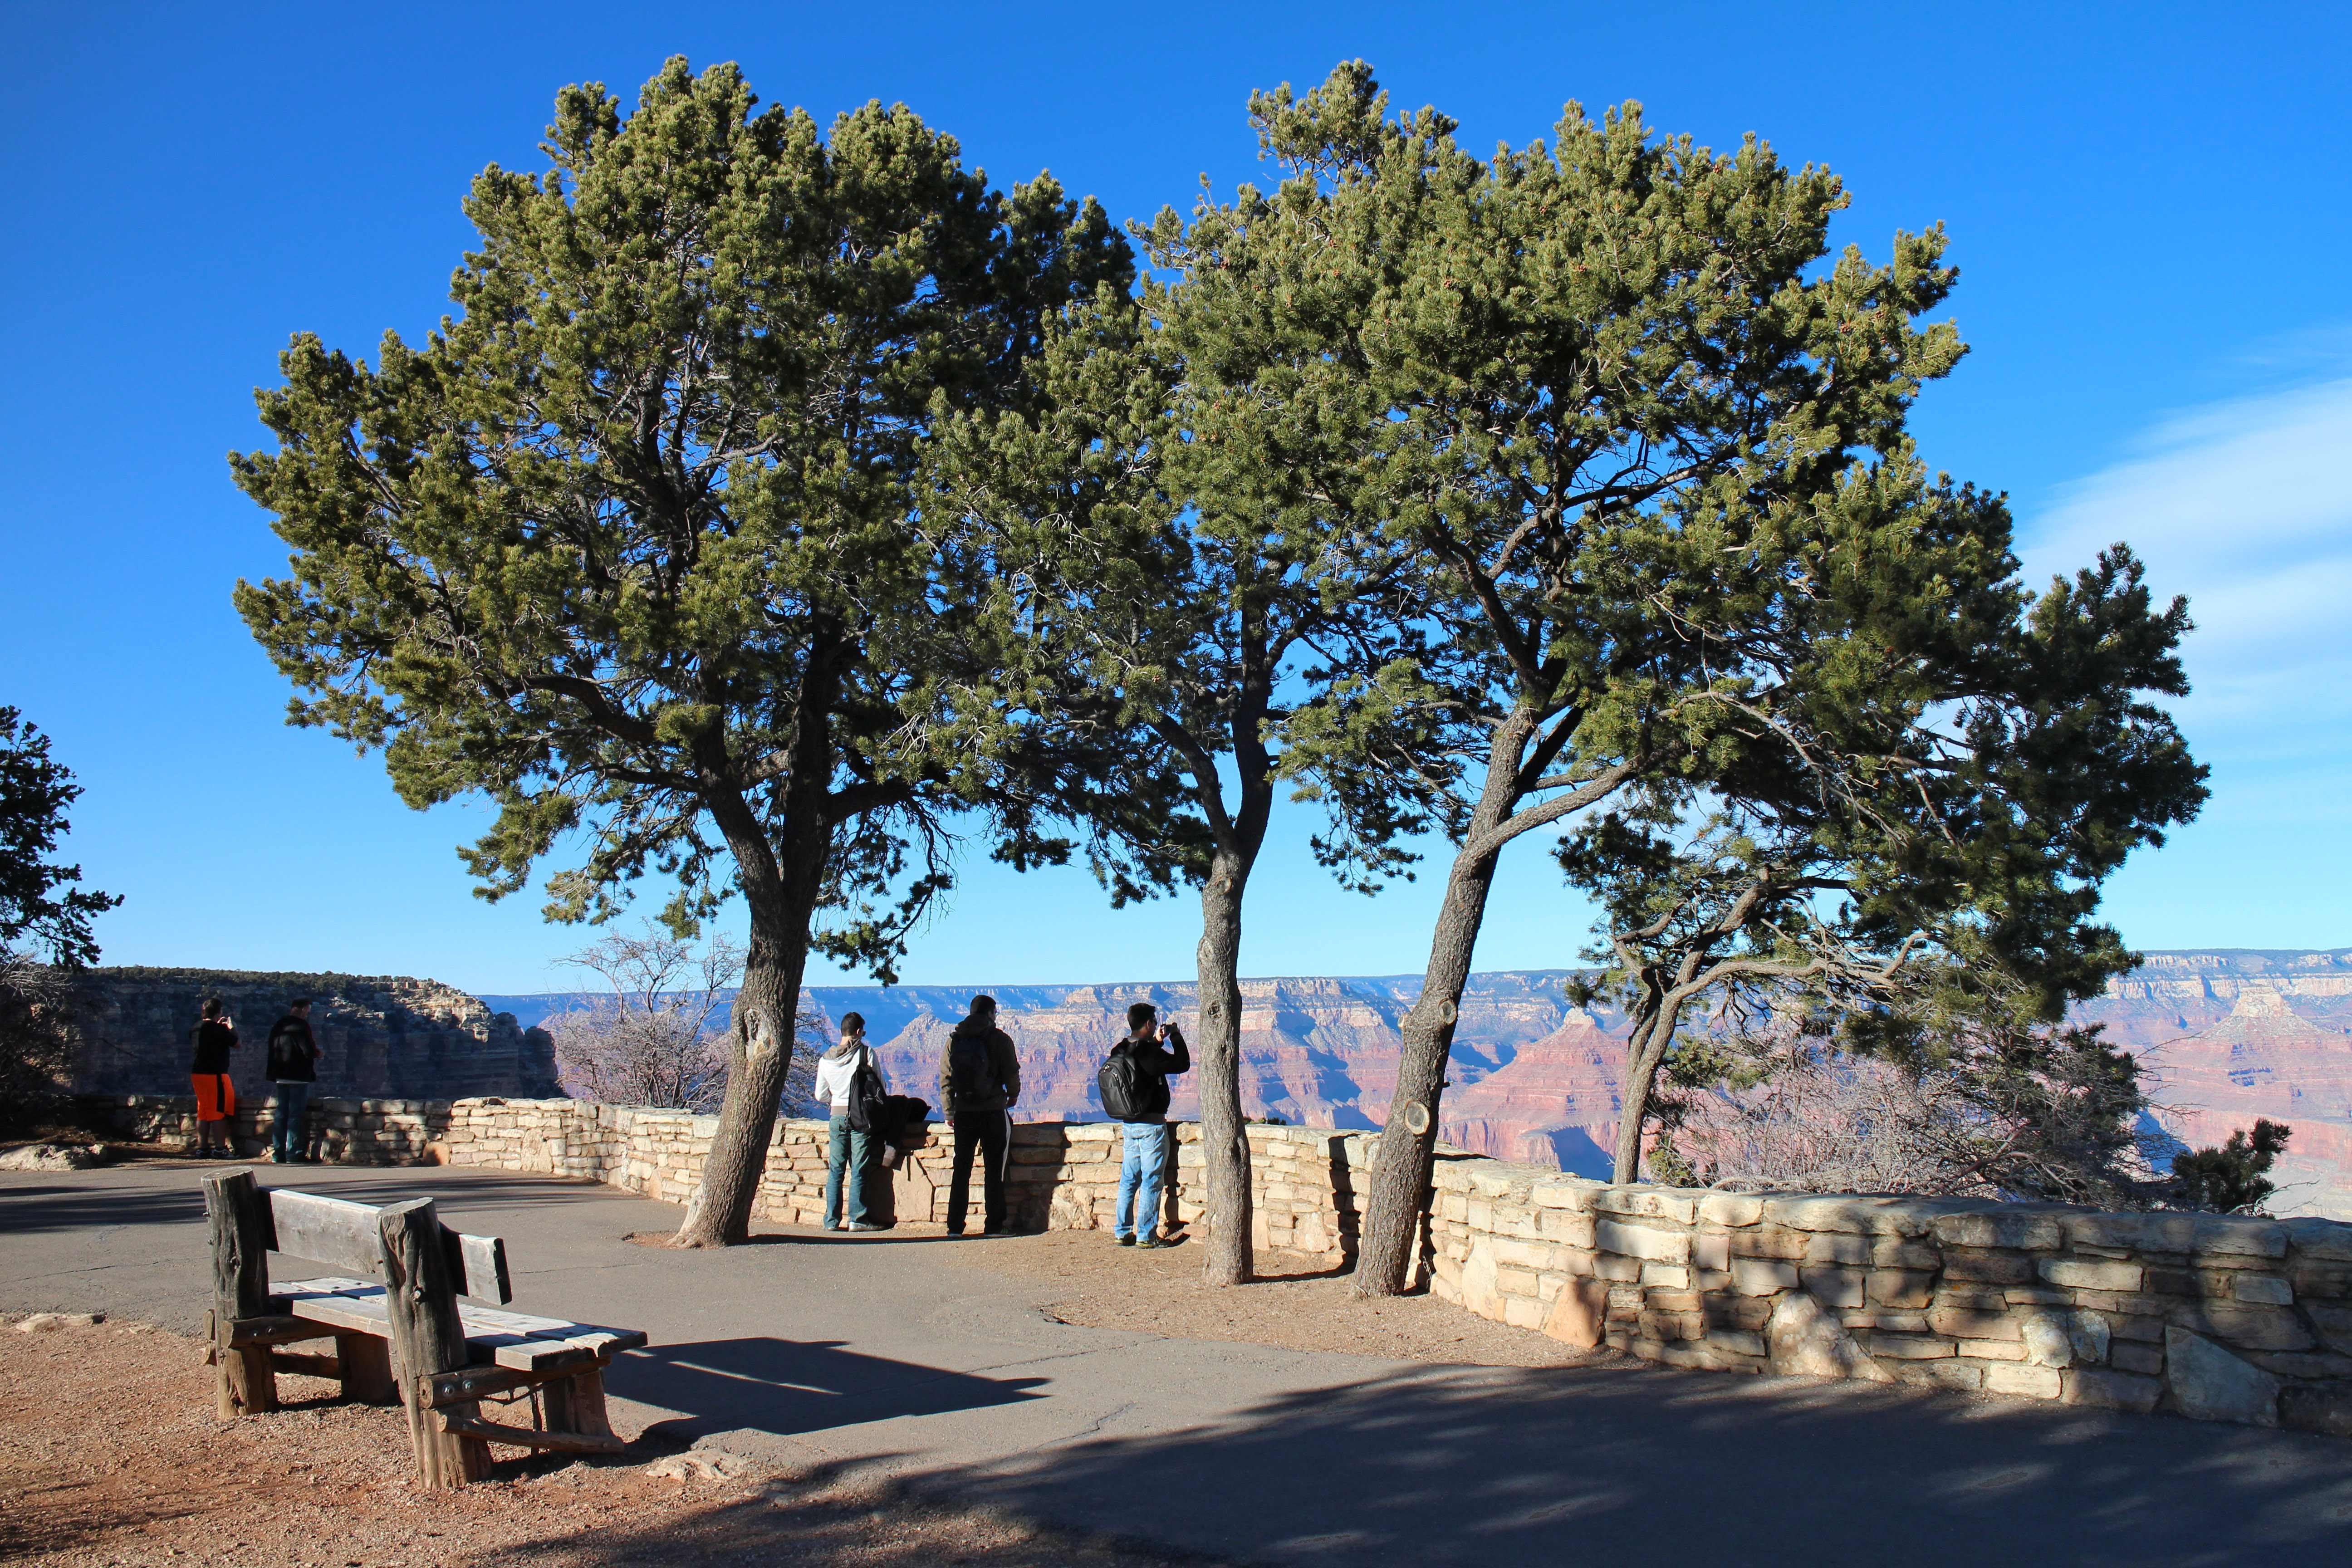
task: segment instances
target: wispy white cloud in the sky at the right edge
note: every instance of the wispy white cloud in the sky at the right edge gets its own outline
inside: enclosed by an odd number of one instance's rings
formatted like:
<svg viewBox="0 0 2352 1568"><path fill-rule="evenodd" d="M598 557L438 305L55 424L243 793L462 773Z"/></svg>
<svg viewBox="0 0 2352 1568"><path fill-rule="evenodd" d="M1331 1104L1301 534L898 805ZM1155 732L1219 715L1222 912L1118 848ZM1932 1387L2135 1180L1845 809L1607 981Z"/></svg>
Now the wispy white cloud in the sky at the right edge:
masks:
<svg viewBox="0 0 2352 1568"><path fill-rule="evenodd" d="M2129 541L2159 595L2190 597L2197 752L2263 795L2333 771L2321 813L2352 811L2352 378L2180 414L2020 538L2037 588Z"/></svg>

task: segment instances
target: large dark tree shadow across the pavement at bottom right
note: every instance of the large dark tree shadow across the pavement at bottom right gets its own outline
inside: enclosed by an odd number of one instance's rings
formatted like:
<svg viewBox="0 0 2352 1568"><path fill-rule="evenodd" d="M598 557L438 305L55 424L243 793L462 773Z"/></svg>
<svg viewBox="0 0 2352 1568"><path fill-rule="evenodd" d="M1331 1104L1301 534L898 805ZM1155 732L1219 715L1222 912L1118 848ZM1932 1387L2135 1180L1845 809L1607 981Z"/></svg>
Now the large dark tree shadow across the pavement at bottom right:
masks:
<svg viewBox="0 0 2352 1568"><path fill-rule="evenodd" d="M1444 1368L910 1476L1284 1563L2343 1563L2340 1439L1670 1371Z"/></svg>

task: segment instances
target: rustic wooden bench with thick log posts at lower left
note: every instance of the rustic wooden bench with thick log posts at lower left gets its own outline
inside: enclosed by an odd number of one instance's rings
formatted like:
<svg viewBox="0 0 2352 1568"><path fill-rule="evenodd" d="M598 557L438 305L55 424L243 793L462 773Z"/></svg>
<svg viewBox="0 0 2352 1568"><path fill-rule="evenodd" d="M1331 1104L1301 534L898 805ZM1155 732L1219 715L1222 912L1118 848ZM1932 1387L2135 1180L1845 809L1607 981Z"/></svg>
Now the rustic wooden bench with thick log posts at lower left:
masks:
<svg viewBox="0 0 2352 1568"><path fill-rule="evenodd" d="M205 1338L223 1420L275 1410L278 1373L308 1373L341 1380L346 1399L407 1406L426 1486L482 1479L489 1443L621 1453L604 1418L604 1368L644 1335L499 1312L513 1300L499 1237L447 1229L430 1199L376 1208L261 1187L252 1171L207 1173L205 1215L214 1295ZM273 1251L367 1279L273 1286ZM303 1340L334 1340L334 1354L282 1349ZM482 1401L524 1399L529 1427L482 1415Z"/></svg>

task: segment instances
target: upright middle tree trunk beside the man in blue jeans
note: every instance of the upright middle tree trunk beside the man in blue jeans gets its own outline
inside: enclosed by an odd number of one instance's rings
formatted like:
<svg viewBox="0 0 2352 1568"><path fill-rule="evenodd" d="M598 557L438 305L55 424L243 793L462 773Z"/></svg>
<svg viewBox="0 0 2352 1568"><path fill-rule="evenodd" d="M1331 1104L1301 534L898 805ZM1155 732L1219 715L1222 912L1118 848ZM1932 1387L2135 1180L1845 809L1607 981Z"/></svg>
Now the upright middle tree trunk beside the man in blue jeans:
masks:
<svg viewBox="0 0 2352 1568"><path fill-rule="evenodd" d="M1200 1147L1209 1178L1209 1255L1202 1284L1251 1276L1249 1124L1242 1121L1242 891L1249 860L1218 853L1200 884Z"/></svg>

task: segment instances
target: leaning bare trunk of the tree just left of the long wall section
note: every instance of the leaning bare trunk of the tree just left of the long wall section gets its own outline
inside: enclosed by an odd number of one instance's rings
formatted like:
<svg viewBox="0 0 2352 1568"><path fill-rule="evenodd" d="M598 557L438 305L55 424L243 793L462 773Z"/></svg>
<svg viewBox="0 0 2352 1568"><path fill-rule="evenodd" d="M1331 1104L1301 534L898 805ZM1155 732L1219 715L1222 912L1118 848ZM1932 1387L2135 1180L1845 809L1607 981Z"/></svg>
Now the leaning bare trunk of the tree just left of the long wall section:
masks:
<svg viewBox="0 0 2352 1568"><path fill-rule="evenodd" d="M1364 1208L1364 1241L1355 1260L1357 1295L1402 1295L1414 1281L1414 1241L1430 1201L1437 1105L1446 1086L1446 1058L1454 1051L1454 1020L1461 1018L1463 985L1470 980L1470 957L1477 952L1477 931L1486 919L1486 893L1503 849L1489 835L1519 799L1519 762L1534 729L1534 717L1524 708L1496 729L1486 788L1446 875L1446 903L1430 936L1421 999L1404 1013L1397 1093L1388 1100L1388 1121L1381 1126Z"/></svg>

